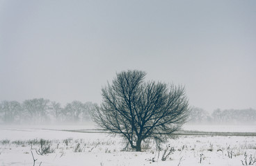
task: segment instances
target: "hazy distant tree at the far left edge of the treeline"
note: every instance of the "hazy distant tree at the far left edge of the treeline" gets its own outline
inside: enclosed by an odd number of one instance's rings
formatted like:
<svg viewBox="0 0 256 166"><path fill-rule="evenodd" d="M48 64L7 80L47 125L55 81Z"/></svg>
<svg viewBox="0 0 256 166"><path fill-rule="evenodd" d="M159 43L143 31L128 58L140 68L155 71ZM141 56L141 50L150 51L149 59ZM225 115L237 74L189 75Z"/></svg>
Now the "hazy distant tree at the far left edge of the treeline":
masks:
<svg viewBox="0 0 256 166"><path fill-rule="evenodd" d="M22 111L21 104L17 101L3 101L1 102L0 111L2 114L3 122L13 123L17 122L20 119L20 114Z"/></svg>

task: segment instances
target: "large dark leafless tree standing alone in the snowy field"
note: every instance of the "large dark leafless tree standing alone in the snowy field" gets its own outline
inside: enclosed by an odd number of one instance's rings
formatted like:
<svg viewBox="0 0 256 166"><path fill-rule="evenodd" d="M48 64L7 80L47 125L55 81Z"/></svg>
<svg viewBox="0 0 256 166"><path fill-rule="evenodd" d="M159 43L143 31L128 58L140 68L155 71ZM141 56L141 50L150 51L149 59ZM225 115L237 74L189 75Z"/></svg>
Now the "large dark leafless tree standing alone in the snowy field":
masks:
<svg viewBox="0 0 256 166"><path fill-rule="evenodd" d="M143 71L123 71L102 89L103 101L93 120L100 128L120 133L136 151L143 140L154 139L157 147L179 130L189 116L183 86L145 82Z"/></svg>

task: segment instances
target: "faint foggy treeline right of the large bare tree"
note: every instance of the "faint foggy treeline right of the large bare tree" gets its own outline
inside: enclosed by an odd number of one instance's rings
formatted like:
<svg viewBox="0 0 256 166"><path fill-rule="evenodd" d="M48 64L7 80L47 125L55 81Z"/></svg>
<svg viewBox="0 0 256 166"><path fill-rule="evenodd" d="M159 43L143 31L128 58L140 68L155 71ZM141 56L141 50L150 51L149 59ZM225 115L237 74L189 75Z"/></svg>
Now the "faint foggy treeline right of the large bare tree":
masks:
<svg viewBox="0 0 256 166"><path fill-rule="evenodd" d="M191 110L189 122L213 124L256 124L255 109L216 109L213 113L195 107Z"/></svg>

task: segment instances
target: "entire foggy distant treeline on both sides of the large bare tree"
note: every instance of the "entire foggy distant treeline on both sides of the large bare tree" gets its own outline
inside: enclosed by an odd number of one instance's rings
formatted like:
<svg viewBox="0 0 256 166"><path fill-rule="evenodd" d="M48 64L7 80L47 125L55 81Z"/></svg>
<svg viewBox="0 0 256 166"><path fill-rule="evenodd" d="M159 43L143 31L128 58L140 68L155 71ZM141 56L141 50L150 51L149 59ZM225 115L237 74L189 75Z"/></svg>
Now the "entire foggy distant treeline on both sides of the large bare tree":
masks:
<svg viewBox="0 0 256 166"><path fill-rule="evenodd" d="M43 124L43 123L79 123L91 121L92 112L97 104L92 102L73 102L65 104L44 98L0 102L0 124ZM256 124L255 109L216 109L209 113L194 107L189 118L190 123L209 124Z"/></svg>

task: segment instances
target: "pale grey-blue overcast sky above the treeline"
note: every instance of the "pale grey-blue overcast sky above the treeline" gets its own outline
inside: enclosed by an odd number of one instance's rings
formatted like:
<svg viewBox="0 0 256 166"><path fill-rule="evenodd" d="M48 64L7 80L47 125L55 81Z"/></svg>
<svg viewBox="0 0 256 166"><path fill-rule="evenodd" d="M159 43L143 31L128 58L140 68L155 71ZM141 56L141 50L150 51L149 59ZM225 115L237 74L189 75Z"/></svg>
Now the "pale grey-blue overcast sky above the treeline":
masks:
<svg viewBox="0 0 256 166"><path fill-rule="evenodd" d="M256 1L0 0L0 101L101 102L119 71L256 109Z"/></svg>

